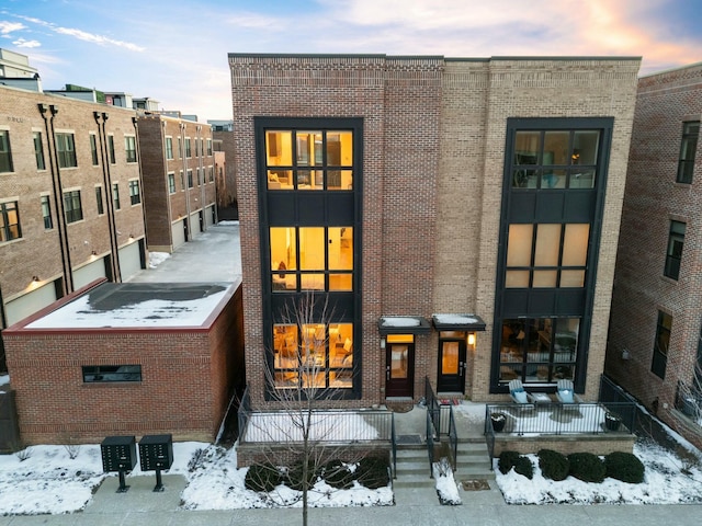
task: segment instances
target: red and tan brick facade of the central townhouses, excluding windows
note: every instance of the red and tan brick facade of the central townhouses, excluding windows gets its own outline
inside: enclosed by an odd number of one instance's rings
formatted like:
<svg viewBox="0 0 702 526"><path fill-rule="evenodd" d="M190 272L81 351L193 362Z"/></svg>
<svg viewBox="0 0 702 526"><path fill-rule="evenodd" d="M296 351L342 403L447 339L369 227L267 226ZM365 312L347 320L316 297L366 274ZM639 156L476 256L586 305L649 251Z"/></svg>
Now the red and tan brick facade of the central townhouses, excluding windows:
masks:
<svg viewBox="0 0 702 526"><path fill-rule="evenodd" d="M509 117L613 116L585 395L597 397L638 59L229 55L241 221L247 373L263 403L261 261L253 117L363 118L362 395L385 403L382 316L475 312L488 323L466 395L489 392ZM268 264L268 262L265 263ZM354 347L356 342L354 342ZM416 336L415 399L435 382L438 335Z"/></svg>

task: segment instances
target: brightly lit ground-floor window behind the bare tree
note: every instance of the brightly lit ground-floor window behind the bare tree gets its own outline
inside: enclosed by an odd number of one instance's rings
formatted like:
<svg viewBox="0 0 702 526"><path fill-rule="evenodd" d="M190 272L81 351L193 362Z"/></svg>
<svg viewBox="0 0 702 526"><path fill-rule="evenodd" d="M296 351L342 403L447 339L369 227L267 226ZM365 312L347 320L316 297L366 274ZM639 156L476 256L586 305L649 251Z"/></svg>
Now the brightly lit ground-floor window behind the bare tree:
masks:
<svg viewBox="0 0 702 526"><path fill-rule="evenodd" d="M273 325L276 388L351 388L353 324Z"/></svg>

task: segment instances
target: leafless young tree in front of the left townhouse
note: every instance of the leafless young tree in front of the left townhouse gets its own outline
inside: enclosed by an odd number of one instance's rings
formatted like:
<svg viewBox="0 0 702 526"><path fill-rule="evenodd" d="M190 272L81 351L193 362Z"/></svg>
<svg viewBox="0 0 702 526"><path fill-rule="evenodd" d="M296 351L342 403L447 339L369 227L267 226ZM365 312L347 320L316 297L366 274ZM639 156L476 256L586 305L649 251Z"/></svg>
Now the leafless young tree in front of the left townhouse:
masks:
<svg viewBox="0 0 702 526"><path fill-rule="evenodd" d="M361 460L366 453L358 442L376 438L377 430L356 413L324 411L329 400L341 398L342 386L351 386L353 370L352 361L341 364L344 367L331 365L338 357L332 356L337 342L330 341L330 334L333 328L339 330L340 323L331 321L335 316L326 296L322 299L308 293L281 315L276 324L281 334L271 350L273 367L265 370L270 397L278 411L253 413L247 441L261 445L261 455L265 457L267 467L256 467L256 477L268 479L260 480L261 489L273 485L270 478L274 481L276 477L287 478L287 483L299 490L306 526L309 493L317 476L324 471L327 482L336 481L338 488L351 487L358 473L351 473L348 465ZM282 474L276 472L281 458L295 458L295 468ZM374 482L376 488L387 485L387 474L384 483Z"/></svg>

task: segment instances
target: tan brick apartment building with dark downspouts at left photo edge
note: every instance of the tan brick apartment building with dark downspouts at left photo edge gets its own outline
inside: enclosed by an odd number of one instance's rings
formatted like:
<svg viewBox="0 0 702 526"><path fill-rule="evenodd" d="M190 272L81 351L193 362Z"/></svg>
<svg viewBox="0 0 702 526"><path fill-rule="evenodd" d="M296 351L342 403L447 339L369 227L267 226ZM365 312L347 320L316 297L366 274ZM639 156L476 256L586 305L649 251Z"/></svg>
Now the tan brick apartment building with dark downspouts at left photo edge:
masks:
<svg viewBox="0 0 702 526"><path fill-rule="evenodd" d="M135 116L0 85L0 329L145 267Z"/></svg>

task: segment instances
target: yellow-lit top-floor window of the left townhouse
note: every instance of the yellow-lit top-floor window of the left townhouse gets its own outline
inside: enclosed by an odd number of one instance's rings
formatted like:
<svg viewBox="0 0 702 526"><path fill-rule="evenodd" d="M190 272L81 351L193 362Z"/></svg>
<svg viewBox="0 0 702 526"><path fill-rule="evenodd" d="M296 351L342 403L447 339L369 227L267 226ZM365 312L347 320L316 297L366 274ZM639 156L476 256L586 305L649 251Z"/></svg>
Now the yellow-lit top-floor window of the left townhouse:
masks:
<svg viewBox="0 0 702 526"><path fill-rule="evenodd" d="M269 130L269 190L353 190L353 134Z"/></svg>

